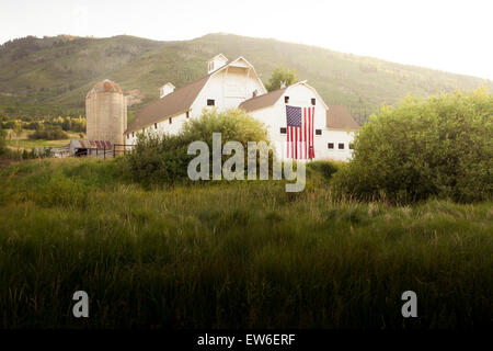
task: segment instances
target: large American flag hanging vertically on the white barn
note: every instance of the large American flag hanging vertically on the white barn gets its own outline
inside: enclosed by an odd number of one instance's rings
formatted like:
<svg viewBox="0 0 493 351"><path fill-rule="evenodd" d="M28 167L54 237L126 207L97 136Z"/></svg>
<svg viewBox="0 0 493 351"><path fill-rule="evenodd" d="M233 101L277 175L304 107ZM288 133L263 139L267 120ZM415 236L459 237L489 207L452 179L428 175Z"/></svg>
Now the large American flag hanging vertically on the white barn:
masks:
<svg viewBox="0 0 493 351"><path fill-rule="evenodd" d="M287 158L314 158L313 122L314 106L286 105Z"/></svg>

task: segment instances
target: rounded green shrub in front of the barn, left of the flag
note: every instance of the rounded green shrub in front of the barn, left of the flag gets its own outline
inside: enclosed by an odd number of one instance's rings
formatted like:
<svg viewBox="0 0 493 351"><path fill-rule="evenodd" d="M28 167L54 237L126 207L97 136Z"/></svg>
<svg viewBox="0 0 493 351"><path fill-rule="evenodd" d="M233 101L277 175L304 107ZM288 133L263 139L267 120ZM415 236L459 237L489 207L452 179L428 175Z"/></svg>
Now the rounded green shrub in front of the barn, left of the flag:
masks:
<svg viewBox="0 0 493 351"><path fill-rule="evenodd" d="M222 145L236 140L245 150L248 141L267 141L264 125L244 111L230 109L219 113L216 109L204 110L200 117L186 122L177 135L139 135L133 152L126 156L127 169L136 181L145 184L187 181L188 162L195 158L187 155L188 145L202 140L211 150L213 133L221 133Z"/></svg>

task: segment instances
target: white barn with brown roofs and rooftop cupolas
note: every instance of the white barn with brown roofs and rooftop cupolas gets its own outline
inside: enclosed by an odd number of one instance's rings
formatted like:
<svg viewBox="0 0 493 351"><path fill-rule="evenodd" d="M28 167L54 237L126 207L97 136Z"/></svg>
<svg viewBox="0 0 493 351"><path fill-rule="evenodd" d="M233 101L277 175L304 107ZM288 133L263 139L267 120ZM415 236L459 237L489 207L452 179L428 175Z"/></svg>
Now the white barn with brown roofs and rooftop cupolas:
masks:
<svg viewBox="0 0 493 351"><path fill-rule="evenodd" d="M306 81L267 92L254 67L243 57L228 64L219 54L208 60L207 67L207 76L177 90L171 82L164 84L160 100L137 112L128 124L126 144L136 143L139 133L176 134L187 118L198 117L205 107L240 107L266 125L280 156L287 145L286 105L290 105L314 111L312 159L351 159L349 146L358 124L343 106L328 105Z"/></svg>

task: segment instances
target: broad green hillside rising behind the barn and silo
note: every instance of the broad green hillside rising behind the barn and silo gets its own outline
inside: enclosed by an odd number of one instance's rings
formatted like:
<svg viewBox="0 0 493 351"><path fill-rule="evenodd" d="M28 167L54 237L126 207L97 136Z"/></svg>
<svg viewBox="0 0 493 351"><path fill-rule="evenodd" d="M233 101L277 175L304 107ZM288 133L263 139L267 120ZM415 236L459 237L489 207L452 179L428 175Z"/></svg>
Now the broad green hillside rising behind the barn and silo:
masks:
<svg viewBox="0 0 493 351"><path fill-rule="evenodd" d="M83 114L85 93L105 78L130 93L135 111L157 99L161 84L182 87L204 76L205 61L217 53L244 56L264 81L278 65L294 68L298 79L307 79L326 102L346 105L360 123L378 104L393 104L408 93L493 88L486 79L230 34L183 42L26 37L0 46L0 116Z"/></svg>

